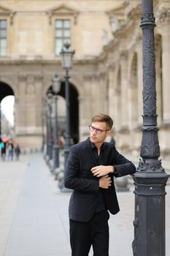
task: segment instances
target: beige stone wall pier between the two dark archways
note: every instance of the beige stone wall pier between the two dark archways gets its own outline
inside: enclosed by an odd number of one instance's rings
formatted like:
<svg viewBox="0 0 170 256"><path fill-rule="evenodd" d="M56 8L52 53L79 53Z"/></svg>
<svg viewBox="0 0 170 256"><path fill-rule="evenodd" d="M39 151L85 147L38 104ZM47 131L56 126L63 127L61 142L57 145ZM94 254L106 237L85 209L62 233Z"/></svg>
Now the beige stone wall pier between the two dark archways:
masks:
<svg viewBox="0 0 170 256"><path fill-rule="evenodd" d="M15 103L16 137L20 145L42 146L42 78L20 75Z"/></svg>

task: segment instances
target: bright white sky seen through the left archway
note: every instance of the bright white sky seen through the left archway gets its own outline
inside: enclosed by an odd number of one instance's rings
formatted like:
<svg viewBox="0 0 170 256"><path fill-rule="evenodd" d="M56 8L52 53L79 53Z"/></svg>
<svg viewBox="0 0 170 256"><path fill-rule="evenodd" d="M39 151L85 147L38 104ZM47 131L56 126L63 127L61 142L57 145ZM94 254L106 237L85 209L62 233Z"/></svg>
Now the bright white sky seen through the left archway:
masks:
<svg viewBox="0 0 170 256"><path fill-rule="evenodd" d="M14 125L14 96L7 96L1 101L1 112L9 120L12 126Z"/></svg>

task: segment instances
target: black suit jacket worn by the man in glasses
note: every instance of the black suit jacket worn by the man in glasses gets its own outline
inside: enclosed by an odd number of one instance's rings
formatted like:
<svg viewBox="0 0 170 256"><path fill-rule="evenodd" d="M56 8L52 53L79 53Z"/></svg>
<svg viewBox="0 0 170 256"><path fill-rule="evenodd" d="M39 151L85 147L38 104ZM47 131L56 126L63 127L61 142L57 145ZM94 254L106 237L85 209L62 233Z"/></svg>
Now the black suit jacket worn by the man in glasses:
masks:
<svg viewBox="0 0 170 256"><path fill-rule="evenodd" d="M112 173L112 186L101 189L107 209L111 214L120 210L115 192L114 176L121 177L135 172L136 167L128 159L119 154L112 143L104 143L104 153L101 165L114 165L117 174ZM70 149L64 176L65 187L73 189L69 202L69 218L88 222L96 209L99 191L99 178L93 176L90 169L96 166L89 138Z"/></svg>

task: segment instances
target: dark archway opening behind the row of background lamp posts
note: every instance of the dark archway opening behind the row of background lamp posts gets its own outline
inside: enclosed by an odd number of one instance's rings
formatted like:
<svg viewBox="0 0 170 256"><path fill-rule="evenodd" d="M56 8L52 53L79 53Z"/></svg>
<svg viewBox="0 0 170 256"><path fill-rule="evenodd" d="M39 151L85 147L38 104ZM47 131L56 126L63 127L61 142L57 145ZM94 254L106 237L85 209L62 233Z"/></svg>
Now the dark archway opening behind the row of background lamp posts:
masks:
<svg viewBox="0 0 170 256"><path fill-rule="evenodd" d="M52 89L52 87L50 86L49 89ZM65 82L63 82L63 81L61 82L61 90L58 92L58 95L63 97L64 99L66 98ZM77 143L79 141L79 102L78 102L78 99L79 99L79 94L78 94L76 87L72 83L69 83L70 136L73 138L74 143ZM61 124L61 130L59 131L59 133L63 132L62 128L65 129L65 120L61 121L61 122L64 122L64 127L63 127L63 124Z"/></svg>

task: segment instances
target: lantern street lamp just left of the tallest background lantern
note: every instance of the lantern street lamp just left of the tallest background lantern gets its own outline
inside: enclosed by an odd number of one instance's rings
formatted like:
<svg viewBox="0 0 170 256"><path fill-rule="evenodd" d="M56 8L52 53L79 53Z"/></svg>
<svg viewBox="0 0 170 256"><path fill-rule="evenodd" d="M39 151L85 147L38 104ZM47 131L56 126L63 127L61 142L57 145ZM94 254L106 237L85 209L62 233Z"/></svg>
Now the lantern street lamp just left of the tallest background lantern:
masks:
<svg viewBox="0 0 170 256"><path fill-rule="evenodd" d="M52 79L53 94L55 97L55 129L54 129L54 145L53 145L53 168L51 172L53 173L55 168L59 167L59 146L58 146L58 110L57 110L57 100L58 92L61 89L61 80L58 75L55 75Z"/></svg>

